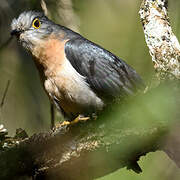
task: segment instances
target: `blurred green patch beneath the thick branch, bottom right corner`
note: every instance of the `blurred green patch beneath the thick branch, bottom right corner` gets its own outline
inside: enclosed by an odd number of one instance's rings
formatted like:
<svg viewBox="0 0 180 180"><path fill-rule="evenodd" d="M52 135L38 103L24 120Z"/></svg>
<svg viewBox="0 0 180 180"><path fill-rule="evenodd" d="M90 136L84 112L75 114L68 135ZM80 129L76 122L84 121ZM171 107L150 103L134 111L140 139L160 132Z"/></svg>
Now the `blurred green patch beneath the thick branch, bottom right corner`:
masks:
<svg viewBox="0 0 180 180"><path fill-rule="evenodd" d="M180 178L179 168L161 151L141 157L139 165L143 169L140 174L123 168L98 180L178 180Z"/></svg>

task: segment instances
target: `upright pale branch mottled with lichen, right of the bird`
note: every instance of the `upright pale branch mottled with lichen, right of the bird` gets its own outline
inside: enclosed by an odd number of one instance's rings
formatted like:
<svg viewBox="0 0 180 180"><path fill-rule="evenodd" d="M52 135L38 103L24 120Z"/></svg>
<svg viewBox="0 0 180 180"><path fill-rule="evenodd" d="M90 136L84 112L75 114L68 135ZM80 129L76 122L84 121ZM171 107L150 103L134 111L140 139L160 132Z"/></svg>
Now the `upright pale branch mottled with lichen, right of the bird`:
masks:
<svg viewBox="0 0 180 180"><path fill-rule="evenodd" d="M143 0L140 16L158 78L180 79L180 45L172 32L167 0Z"/></svg>

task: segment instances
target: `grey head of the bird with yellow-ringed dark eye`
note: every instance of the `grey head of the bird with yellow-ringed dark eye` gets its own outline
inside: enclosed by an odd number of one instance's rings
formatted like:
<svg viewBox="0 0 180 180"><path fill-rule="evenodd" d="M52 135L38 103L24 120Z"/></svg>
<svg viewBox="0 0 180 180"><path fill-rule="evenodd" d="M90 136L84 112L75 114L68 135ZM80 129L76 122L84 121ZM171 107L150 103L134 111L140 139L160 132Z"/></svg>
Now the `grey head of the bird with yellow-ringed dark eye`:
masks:
<svg viewBox="0 0 180 180"><path fill-rule="evenodd" d="M28 50L32 50L53 32L54 23L43 13L23 12L11 23L11 35Z"/></svg>

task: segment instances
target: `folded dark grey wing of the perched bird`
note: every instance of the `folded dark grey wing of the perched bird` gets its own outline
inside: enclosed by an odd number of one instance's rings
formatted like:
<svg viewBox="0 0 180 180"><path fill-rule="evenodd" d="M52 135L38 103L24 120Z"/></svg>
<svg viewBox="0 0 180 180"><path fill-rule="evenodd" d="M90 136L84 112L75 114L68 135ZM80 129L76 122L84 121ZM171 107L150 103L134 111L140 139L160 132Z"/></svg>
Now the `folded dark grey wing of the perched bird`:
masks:
<svg viewBox="0 0 180 180"><path fill-rule="evenodd" d="M76 71L102 98L134 94L144 87L141 77L123 60L83 37L66 42L65 53Z"/></svg>

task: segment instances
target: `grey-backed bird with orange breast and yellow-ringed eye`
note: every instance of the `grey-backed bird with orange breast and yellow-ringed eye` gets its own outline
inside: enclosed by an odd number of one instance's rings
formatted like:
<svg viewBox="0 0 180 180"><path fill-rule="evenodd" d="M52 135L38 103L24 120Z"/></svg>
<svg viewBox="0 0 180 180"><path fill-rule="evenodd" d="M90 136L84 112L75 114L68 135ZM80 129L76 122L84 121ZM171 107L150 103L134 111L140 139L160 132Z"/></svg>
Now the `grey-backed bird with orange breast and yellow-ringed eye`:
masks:
<svg viewBox="0 0 180 180"><path fill-rule="evenodd" d="M14 18L11 36L32 54L45 92L68 122L92 117L144 88L125 61L43 12Z"/></svg>

